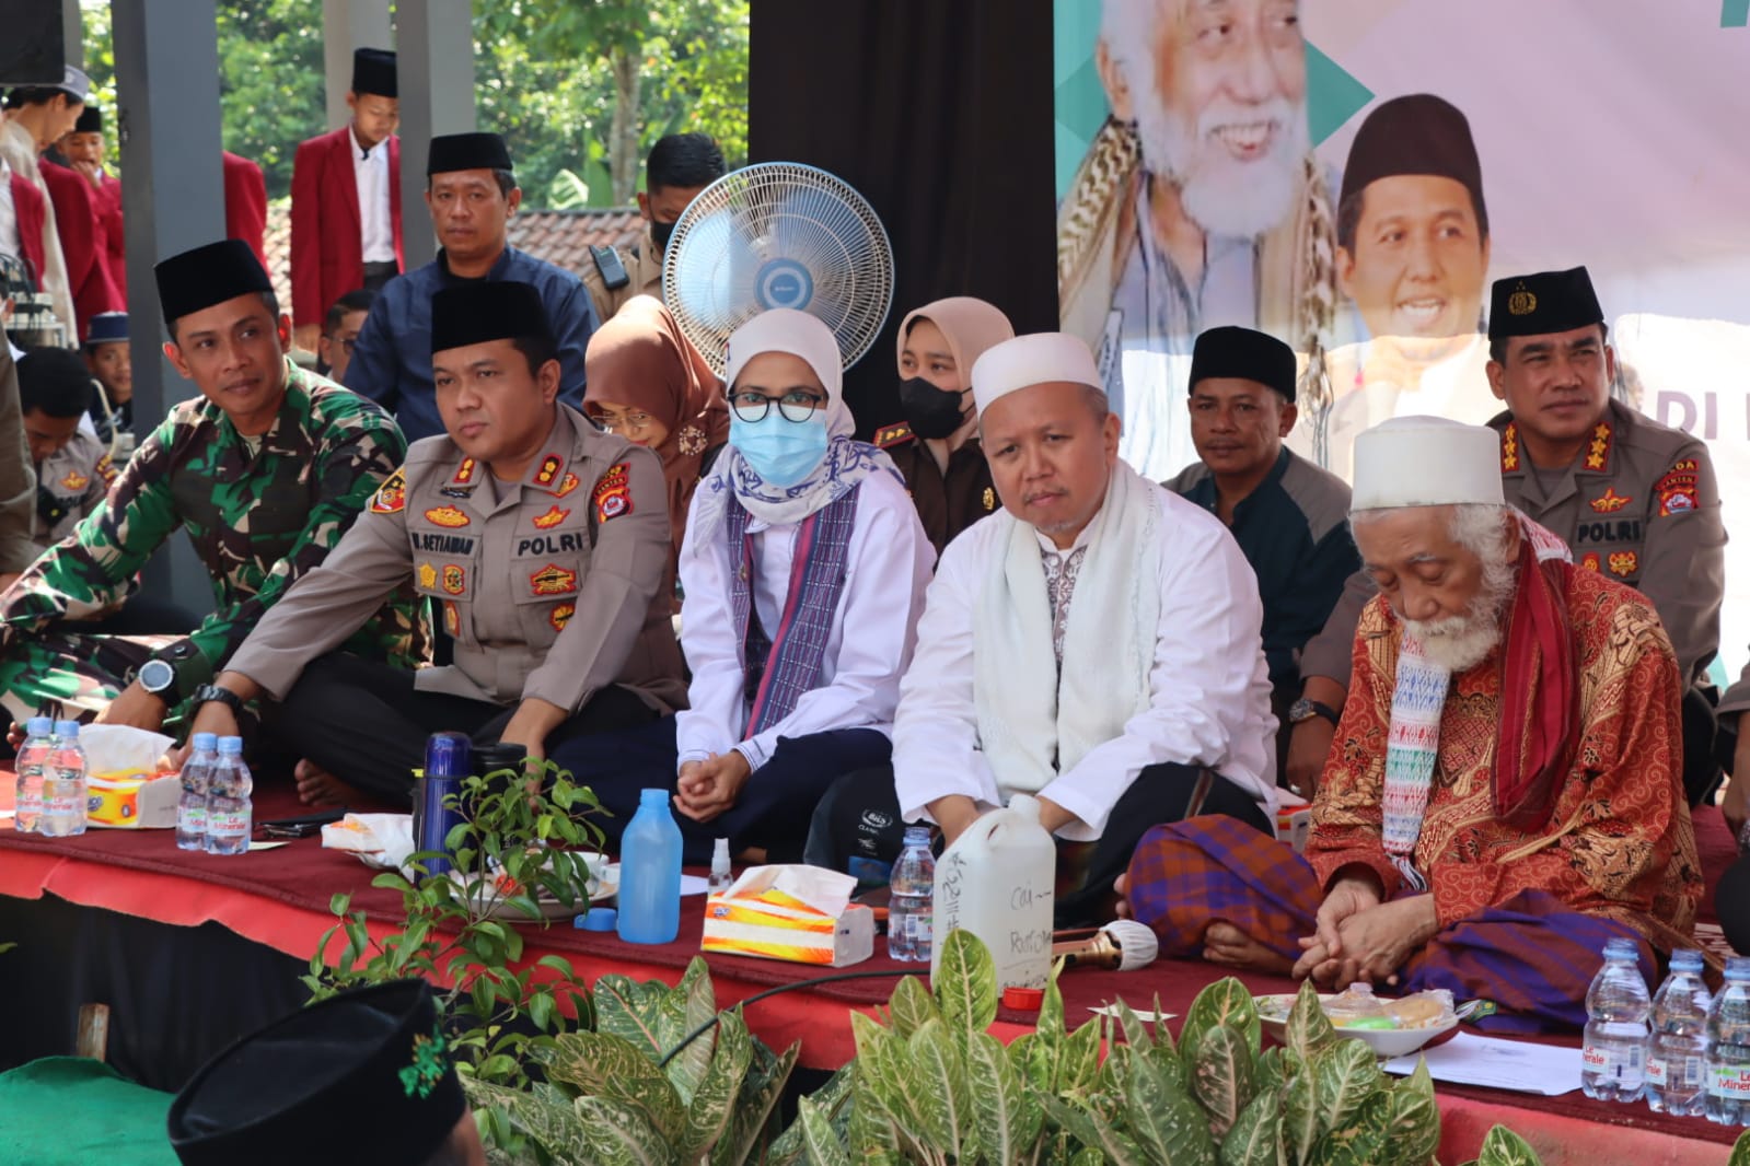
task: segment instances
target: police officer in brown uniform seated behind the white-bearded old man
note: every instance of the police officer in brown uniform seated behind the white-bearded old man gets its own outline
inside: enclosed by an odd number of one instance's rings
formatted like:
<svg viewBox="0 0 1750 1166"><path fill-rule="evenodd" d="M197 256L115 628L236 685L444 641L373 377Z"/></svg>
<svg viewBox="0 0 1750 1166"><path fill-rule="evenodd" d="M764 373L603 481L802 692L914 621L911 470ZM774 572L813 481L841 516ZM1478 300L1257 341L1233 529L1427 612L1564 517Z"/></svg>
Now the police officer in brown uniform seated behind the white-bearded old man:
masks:
<svg viewBox="0 0 1750 1166"><path fill-rule="evenodd" d="M1720 647L1726 524L1706 446L1610 399L1615 353L1586 267L1496 280L1489 306L1489 385L1507 402L1502 435L1507 503L1568 540L1577 566L1652 600L1689 685L1684 694L1684 785L1690 804L1713 790L1715 692L1708 664ZM1349 580L1325 631L1307 645L1304 696L1340 708L1354 622L1372 594ZM1337 685L1339 699L1321 696ZM1328 692L1328 689L1323 689ZM1295 724L1290 769L1330 748L1312 717ZM1302 725L1312 725L1302 741ZM1306 748L1298 748L1306 745Z"/></svg>

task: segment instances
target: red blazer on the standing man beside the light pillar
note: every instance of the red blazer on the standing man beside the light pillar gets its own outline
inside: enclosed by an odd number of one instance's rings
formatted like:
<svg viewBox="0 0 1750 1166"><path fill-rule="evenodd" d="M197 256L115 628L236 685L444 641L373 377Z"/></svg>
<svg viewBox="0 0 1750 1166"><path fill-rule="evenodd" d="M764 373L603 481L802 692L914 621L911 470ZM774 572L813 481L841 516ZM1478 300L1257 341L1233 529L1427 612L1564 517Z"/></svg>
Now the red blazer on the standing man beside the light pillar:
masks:
<svg viewBox="0 0 1750 1166"><path fill-rule="evenodd" d="M352 126L310 138L292 159L292 325L322 323L346 292L364 287L359 184ZM388 227L401 255L401 138L388 136Z"/></svg>

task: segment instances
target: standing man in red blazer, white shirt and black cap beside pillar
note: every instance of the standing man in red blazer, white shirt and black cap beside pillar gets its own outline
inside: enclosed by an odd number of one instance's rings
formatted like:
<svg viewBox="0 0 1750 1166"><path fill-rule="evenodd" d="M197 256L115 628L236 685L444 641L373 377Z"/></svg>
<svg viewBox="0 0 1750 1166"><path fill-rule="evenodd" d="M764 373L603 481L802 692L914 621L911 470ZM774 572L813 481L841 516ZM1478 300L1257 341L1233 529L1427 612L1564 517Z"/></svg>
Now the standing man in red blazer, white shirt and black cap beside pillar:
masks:
<svg viewBox="0 0 1750 1166"><path fill-rule="evenodd" d="M329 304L401 274L401 121L396 54L354 49L352 121L292 159L292 341L317 350Z"/></svg>

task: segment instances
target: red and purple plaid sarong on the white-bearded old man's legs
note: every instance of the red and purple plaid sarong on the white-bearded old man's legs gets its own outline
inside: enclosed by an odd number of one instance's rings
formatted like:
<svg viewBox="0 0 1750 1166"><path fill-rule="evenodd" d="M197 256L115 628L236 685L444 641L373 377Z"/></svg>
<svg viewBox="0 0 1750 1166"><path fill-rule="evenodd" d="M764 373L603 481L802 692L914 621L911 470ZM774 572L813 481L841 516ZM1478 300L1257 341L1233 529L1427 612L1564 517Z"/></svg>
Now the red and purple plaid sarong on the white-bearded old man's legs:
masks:
<svg viewBox="0 0 1750 1166"><path fill-rule="evenodd" d="M1132 918L1160 937L1162 956L1200 956L1214 921L1290 960L1300 958L1321 900L1312 867L1286 843L1232 818L1202 816L1157 825L1130 858ZM1631 927L1568 911L1545 892L1507 902L1442 928L1400 972L1402 991L1451 989L1456 1000L1491 1000L1484 1031L1536 1033L1586 1024L1586 989L1603 965L1605 940L1628 937L1642 972L1657 975L1654 951Z"/></svg>

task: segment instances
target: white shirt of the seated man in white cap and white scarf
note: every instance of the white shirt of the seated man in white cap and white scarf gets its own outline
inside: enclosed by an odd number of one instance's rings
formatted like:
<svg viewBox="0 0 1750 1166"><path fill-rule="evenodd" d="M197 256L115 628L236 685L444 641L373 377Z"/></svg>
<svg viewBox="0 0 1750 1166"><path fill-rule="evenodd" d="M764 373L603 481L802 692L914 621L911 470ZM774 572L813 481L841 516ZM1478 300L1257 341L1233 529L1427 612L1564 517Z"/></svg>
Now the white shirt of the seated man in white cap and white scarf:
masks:
<svg viewBox="0 0 1750 1166"><path fill-rule="evenodd" d="M1118 797L1160 762L1208 766L1274 813L1276 718L1256 575L1213 514L1166 489L1157 505L1160 537L1136 549L1138 570L1160 587L1148 708L1040 790L1078 818L1059 830L1066 839L1097 839ZM999 523L966 530L929 584L892 732L894 787L908 822L928 820L928 804L950 794L980 806L1008 801L980 748L973 699L973 610L1003 533ZM1040 547L1057 552L1043 535Z"/></svg>

